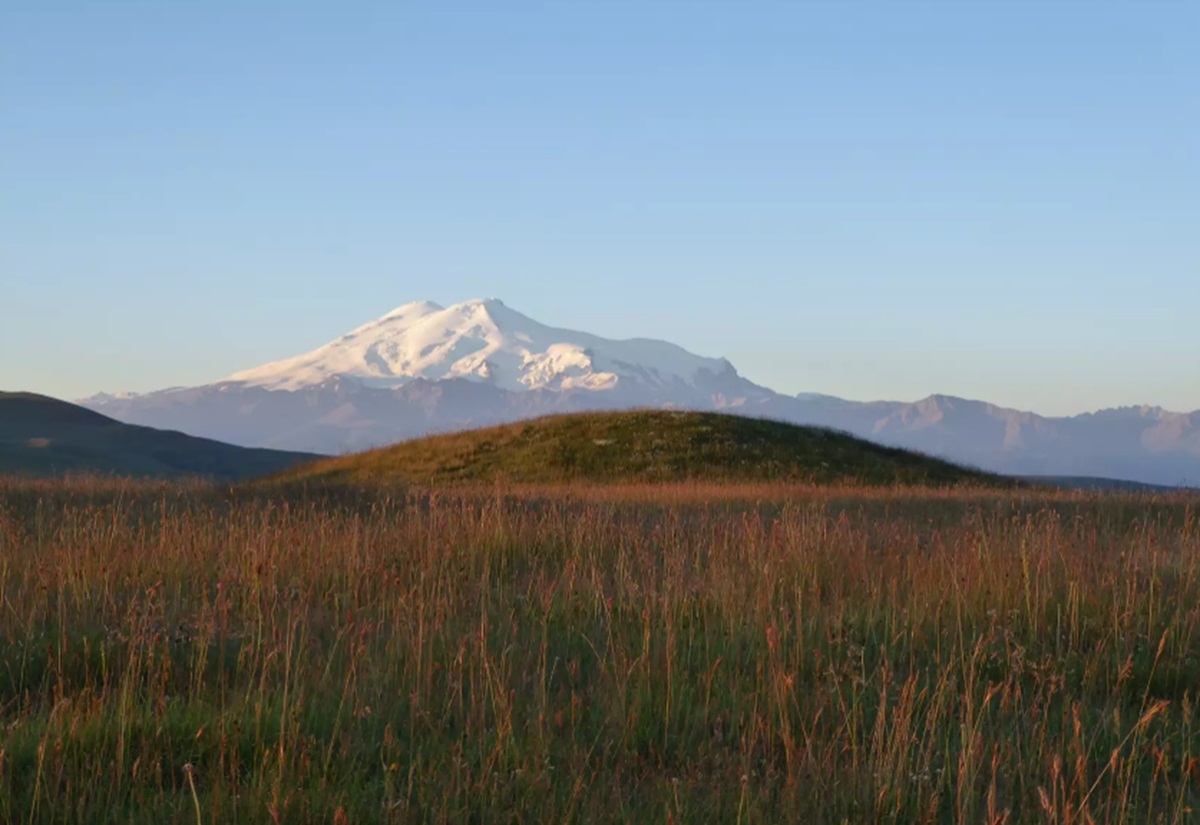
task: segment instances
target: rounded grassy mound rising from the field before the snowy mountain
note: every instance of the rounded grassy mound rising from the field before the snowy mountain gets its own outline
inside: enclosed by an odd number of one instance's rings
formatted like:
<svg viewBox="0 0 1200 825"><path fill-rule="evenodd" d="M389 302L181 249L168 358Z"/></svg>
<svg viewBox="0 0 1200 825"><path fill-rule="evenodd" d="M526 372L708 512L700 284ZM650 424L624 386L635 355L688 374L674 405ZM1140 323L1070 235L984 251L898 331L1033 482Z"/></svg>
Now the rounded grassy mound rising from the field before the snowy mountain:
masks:
<svg viewBox="0 0 1200 825"><path fill-rule="evenodd" d="M436 435L317 462L287 472L284 478L413 483L1012 483L828 429L668 410L558 415Z"/></svg>

